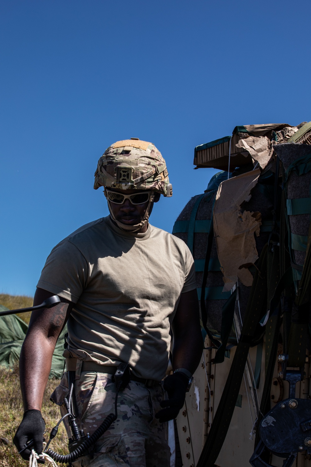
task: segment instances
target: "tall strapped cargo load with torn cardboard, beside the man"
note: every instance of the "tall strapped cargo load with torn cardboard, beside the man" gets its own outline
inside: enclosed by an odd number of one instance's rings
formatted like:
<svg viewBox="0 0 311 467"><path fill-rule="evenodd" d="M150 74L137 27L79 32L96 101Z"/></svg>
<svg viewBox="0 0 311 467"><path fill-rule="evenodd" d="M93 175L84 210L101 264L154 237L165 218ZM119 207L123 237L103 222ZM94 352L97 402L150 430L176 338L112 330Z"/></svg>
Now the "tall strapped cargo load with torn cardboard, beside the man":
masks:
<svg viewBox="0 0 311 467"><path fill-rule="evenodd" d="M173 228L194 255L205 336L177 417L185 467L311 467L310 145L304 122L194 150L196 168L223 171Z"/></svg>

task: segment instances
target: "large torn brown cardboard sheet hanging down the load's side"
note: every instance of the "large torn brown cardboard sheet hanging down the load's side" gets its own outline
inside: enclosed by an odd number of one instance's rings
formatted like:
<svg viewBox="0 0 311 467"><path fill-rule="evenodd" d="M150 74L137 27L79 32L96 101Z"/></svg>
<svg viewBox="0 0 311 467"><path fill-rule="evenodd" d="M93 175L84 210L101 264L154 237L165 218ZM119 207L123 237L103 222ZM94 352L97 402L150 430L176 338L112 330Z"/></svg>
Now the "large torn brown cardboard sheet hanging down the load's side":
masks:
<svg viewBox="0 0 311 467"><path fill-rule="evenodd" d="M242 212L241 205L251 198L260 169L221 182L214 205L214 236L221 263L223 291L232 289L237 280L250 286L253 276L247 267L258 259L254 233L259 235L260 212ZM239 269L241 266L241 269Z"/></svg>

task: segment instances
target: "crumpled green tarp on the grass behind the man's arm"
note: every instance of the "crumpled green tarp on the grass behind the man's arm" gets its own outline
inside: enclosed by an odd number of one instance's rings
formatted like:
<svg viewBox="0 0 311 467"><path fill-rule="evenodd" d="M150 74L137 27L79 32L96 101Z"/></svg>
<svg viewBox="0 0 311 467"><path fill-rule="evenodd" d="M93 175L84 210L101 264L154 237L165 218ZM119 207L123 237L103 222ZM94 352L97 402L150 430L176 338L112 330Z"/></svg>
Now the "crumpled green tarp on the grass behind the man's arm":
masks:
<svg viewBox="0 0 311 467"><path fill-rule="evenodd" d="M3 305L0 305L0 311L6 311ZM28 325L16 315L7 315L0 317L0 365L7 368L12 367L19 361L21 346L25 339ZM61 378L64 368L64 335L67 333L67 326L60 334L52 358L52 367L49 377Z"/></svg>

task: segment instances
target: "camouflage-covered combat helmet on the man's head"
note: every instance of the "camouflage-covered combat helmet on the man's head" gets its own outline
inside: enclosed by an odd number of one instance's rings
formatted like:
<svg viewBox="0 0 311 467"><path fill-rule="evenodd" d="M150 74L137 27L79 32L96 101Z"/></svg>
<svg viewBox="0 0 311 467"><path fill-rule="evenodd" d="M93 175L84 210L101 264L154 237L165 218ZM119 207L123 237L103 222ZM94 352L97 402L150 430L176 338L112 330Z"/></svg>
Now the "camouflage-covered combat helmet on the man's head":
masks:
<svg viewBox="0 0 311 467"><path fill-rule="evenodd" d="M172 196L166 163L154 144L140 140L117 141L105 150L95 172L94 189L153 190Z"/></svg>

